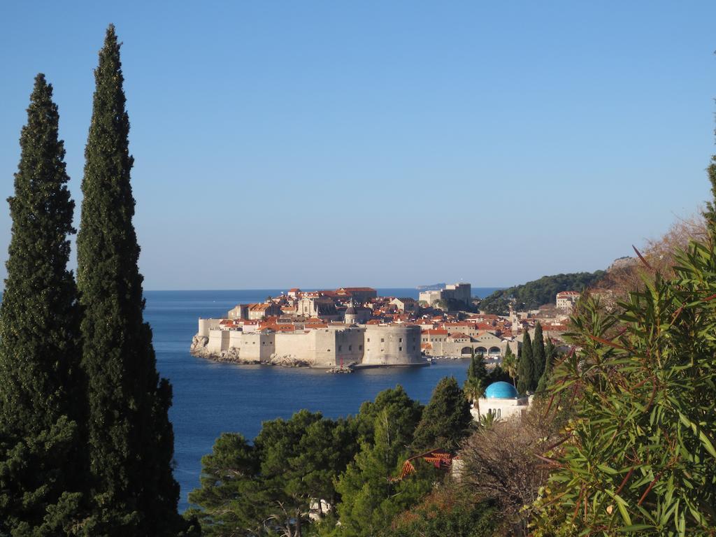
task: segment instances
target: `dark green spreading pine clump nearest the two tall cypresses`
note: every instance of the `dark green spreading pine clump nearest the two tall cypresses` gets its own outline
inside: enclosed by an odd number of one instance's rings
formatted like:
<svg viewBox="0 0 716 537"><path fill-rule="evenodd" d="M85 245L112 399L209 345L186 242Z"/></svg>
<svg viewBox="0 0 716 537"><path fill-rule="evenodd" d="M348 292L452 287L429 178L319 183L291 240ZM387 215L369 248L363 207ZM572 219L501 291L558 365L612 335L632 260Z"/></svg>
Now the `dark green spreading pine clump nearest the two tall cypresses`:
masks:
<svg viewBox="0 0 716 537"><path fill-rule="evenodd" d="M208 536L299 535L314 500L335 505L335 480L357 453L354 422L307 410L263 423L254 445L224 434L202 459L192 508ZM325 514L325 513L321 513Z"/></svg>

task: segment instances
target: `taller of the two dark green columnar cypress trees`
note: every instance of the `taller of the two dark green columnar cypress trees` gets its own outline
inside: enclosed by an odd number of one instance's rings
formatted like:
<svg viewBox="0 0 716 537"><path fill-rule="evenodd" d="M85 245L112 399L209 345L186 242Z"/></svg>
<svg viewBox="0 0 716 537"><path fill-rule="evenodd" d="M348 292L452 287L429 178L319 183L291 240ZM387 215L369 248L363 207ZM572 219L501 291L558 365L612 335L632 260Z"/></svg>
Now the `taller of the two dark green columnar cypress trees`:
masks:
<svg viewBox="0 0 716 537"><path fill-rule="evenodd" d="M154 537L176 533L179 488L172 475L171 386L159 379L142 314L123 80L120 44L110 25L95 69L77 236L87 450L93 535Z"/></svg>

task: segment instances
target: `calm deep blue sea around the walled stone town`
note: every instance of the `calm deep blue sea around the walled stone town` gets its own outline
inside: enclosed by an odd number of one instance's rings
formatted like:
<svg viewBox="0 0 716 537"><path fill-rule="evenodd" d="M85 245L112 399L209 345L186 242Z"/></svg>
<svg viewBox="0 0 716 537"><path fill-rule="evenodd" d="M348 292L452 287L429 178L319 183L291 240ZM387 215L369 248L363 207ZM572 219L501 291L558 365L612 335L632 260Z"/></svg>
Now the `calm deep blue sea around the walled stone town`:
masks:
<svg viewBox="0 0 716 537"><path fill-rule="evenodd" d="M329 417L355 414L361 403L381 390L402 384L410 397L430 400L445 376L465 379L464 360L412 369L367 369L354 374L327 374L311 369L216 364L191 356L198 317L218 317L236 304L263 301L285 289L251 291L146 291L145 319L154 332L160 374L174 387L170 418L175 435L175 477L181 486L180 510L199 484L200 458L211 452L221 432L241 432L253 439L261 422L290 417L302 408ZM493 288L474 289L487 296ZM412 296L416 289L379 289L382 296Z"/></svg>

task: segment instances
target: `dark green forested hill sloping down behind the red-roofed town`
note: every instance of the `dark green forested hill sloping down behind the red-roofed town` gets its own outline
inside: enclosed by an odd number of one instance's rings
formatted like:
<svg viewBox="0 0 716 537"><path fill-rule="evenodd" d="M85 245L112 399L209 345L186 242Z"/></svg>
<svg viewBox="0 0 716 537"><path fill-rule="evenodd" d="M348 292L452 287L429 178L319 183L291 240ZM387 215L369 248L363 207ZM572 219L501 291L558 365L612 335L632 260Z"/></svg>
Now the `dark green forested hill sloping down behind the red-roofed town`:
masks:
<svg viewBox="0 0 716 537"><path fill-rule="evenodd" d="M537 309L542 304L554 303L554 297L558 292L581 291L604 277L604 274L605 271L596 271L542 276L526 284L495 291L480 301L480 310L490 314L506 315L511 298L516 300L516 309Z"/></svg>

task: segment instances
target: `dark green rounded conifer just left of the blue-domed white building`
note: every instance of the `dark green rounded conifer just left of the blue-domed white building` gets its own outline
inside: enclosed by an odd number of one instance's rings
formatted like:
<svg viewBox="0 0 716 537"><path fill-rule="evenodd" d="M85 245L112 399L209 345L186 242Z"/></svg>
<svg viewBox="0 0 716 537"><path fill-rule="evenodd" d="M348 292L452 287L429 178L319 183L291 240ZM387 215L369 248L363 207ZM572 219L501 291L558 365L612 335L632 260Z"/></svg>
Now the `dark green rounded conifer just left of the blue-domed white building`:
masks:
<svg viewBox="0 0 716 537"><path fill-rule="evenodd" d="M484 390L483 380L473 377L473 382ZM460 390L455 377L445 377L437 383L422 412L415 429L413 448L418 452L434 448L457 450L472 420L465 392Z"/></svg>

